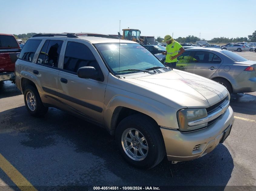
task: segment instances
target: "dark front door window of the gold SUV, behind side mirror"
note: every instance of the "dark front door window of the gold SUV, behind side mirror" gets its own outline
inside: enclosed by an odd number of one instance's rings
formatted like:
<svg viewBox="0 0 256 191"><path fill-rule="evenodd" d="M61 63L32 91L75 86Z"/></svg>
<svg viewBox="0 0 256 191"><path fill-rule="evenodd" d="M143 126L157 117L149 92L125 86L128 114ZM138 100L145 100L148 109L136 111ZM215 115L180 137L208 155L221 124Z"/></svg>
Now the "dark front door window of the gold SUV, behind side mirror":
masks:
<svg viewBox="0 0 256 191"><path fill-rule="evenodd" d="M68 42L63 69L77 73L78 69L84 66L92 66L96 70L100 69L94 55L86 45Z"/></svg>

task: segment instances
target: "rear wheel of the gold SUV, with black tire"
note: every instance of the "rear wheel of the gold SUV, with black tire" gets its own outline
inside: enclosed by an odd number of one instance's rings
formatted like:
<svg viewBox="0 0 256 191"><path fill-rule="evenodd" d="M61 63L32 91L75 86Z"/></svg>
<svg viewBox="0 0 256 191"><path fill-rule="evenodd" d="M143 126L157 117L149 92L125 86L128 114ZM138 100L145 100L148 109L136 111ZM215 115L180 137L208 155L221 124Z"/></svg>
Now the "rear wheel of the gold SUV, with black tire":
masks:
<svg viewBox="0 0 256 191"><path fill-rule="evenodd" d="M32 93L32 94L30 94ZM29 97L29 95L33 95L34 98L32 99L33 102L35 103L35 110L33 110L31 107L33 106L29 106L28 102L27 102L27 96ZM29 99L28 99L29 100ZM39 96L39 93L37 91L36 88L34 88L33 86L31 85L28 85L26 88L25 88L25 91L24 91L24 101L25 101L25 106L28 110L28 113L30 113L32 116L36 116L36 117L41 117L41 116L44 116L45 113L47 113L48 111L48 107L45 107L42 103L42 100Z"/></svg>

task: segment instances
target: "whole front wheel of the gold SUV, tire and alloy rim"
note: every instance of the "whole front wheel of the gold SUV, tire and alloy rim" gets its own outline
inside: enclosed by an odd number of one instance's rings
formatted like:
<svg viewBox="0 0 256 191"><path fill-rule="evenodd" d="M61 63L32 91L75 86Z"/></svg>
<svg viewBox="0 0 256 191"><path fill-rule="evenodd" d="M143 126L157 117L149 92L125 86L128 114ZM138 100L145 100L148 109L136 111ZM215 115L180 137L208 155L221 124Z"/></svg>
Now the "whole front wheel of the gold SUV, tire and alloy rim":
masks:
<svg viewBox="0 0 256 191"><path fill-rule="evenodd" d="M155 167L166 153L158 124L143 114L123 119L117 126L115 139L125 161L138 168Z"/></svg>

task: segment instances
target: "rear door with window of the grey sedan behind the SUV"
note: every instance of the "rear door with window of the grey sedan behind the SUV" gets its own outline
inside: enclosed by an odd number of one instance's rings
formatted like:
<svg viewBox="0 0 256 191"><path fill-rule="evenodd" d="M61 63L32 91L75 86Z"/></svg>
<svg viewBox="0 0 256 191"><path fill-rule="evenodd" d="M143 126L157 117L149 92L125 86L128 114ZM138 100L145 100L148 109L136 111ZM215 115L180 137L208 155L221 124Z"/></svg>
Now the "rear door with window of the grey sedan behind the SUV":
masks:
<svg viewBox="0 0 256 191"><path fill-rule="evenodd" d="M222 60L215 53L210 51L193 51L193 59L186 67L186 72L210 78L221 66Z"/></svg>

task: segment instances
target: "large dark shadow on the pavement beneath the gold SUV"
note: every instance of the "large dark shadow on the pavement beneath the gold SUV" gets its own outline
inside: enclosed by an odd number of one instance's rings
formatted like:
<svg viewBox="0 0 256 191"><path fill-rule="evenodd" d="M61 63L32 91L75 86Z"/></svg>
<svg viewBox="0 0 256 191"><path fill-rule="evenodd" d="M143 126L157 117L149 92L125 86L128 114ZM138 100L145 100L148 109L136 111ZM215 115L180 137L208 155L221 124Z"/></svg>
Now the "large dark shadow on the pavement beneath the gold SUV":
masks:
<svg viewBox="0 0 256 191"><path fill-rule="evenodd" d="M69 186L211 185L221 186L216 190L224 190L234 168L230 152L219 144L211 153L193 161L171 164L164 158L158 166L140 170L129 166L121 158L115 141L105 129L54 108L49 108L44 118L35 118L28 114L25 106L18 107L1 112L0 121L0 144L11 144L0 153L9 158L16 149L22 156L30 154L29 159L23 158L22 163L18 163L18 169L23 169L23 173L30 174L30 177L35 176L36 180L31 180L33 185L47 185L43 182L44 176L47 177L44 181L52 182L51 176L56 176L52 175L56 173L55 166L51 166L54 164L58 166L59 176L68 176L69 182L65 184ZM79 163L77 156L86 158ZM25 164L32 163L27 160L33 161L34 166L26 166L26 169ZM41 166L44 171L40 170ZM60 180L62 178L53 182L63 185L63 182L58 182Z"/></svg>

